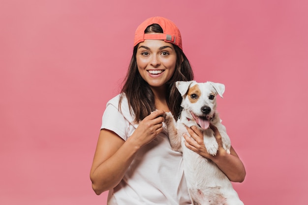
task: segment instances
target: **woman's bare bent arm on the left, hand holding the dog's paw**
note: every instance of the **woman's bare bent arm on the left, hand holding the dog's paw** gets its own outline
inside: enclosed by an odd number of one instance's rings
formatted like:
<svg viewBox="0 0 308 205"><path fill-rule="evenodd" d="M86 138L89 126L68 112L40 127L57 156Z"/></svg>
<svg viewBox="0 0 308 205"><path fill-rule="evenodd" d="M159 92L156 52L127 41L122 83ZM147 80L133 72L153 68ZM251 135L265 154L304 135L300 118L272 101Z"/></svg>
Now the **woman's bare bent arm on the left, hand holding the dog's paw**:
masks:
<svg viewBox="0 0 308 205"><path fill-rule="evenodd" d="M164 113L155 111L145 117L126 141L110 130L100 131L90 172L97 195L120 183L136 152L162 131L164 118L159 116Z"/></svg>

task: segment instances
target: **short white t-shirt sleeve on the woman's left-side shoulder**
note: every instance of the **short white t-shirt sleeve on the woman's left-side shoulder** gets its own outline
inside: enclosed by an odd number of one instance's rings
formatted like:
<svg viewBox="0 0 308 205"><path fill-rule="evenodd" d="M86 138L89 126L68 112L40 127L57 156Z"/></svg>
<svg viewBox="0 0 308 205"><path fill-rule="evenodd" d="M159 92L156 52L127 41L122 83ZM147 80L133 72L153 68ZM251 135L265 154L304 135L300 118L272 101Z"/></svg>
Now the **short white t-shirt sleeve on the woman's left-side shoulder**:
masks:
<svg viewBox="0 0 308 205"><path fill-rule="evenodd" d="M109 104L102 117L101 129L107 129L115 132L123 140L127 140L127 130L129 122L126 118L119 112L118 108L114 105Z"/></svg>

